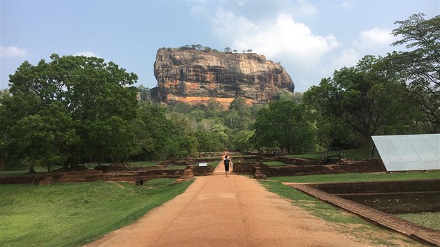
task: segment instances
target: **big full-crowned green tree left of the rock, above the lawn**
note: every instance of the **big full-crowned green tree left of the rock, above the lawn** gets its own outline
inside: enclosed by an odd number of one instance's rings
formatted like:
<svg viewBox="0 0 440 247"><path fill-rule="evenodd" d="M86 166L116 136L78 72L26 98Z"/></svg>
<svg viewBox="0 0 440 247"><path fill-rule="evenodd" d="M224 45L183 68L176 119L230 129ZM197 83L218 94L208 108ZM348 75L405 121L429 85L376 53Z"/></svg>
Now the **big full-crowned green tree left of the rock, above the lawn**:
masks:
<svg viewBox="0 0 440 247"><path fill-rule="evenodd" d="M27 144L25 139L20 141L23 135L14 132L32 127L31 120L39 124L42 119L45 124L34 127L40 133L47 133L47 138L53 135L56 141L41 141L47 142L45 148L60 156L59 160L67 160L65 165L75 167L85 160L103 158L104 154L105 158L117 162L132 154L134 135L129 124L136 117L138 102L137 90L127 86L137 80L137 75L96 57L52 54L50 59L50 62L41 60L37 66L25 61L14 75L10 75L13 100L29 105L27 97L31 96L38 104L15 116L14 107L6 104L9 106L4 110L12 116L7 126L12 131L6 137L7 145ZM110 130L105 131L108 128ZM48 143L55 145L57 150ZM36 159L25 153L23 158Z"/></svg>

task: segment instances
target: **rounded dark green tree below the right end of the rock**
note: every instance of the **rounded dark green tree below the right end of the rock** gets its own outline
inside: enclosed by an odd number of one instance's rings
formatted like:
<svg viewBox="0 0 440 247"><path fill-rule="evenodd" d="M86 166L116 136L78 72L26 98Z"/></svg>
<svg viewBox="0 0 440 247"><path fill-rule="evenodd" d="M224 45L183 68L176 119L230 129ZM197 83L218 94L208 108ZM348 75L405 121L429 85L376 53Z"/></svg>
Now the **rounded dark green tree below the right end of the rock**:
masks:
<svg viewBox="0 0 440 247"><path fill-rule="evenodd" d="M316 130L304 105L274 101L258 112L253 141L258 149L305 151L314 147Z"/></svg>

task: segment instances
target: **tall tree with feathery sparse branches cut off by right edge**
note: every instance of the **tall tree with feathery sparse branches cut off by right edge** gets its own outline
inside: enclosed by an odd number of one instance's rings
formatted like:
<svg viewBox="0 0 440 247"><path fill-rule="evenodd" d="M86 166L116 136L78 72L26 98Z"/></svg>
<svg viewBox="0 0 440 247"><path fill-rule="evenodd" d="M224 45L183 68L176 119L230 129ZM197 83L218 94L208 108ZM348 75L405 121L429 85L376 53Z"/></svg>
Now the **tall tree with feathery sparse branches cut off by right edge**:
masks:
<svg viewBox="0 0 440 247"><path fill-rule="evenodd" d="M402 37L392 45L405 45L408 51L388 54L388 73L409 85L413 102L432 124L432 132L440 130L440 15L425 20L424 14L411 15L397 21L393 35Z"/></svg>

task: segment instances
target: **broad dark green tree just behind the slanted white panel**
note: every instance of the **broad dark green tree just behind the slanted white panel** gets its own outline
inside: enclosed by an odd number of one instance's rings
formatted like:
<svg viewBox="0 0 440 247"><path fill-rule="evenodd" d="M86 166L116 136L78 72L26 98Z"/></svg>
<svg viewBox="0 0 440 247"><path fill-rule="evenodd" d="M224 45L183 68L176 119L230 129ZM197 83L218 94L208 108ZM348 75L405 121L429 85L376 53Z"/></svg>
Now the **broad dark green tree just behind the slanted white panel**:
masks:
<svg viewBox="0 0 440 247"><path fill-rule="evenodd" d="M385 133L386 126L406 122L412 109L404 85L387 80L374 67L379 60L365 56L355 67L335 70L333 78L306 91L303 102L327 121L349 126L369 144L371 135Z"/></svg>

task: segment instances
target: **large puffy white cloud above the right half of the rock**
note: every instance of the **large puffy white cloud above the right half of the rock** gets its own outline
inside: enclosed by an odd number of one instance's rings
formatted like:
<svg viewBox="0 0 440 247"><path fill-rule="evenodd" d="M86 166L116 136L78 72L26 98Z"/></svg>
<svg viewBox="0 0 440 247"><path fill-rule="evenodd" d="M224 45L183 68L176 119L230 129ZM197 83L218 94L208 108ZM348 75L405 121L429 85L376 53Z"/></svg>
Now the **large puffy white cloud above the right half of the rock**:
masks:
<svg viewBox="0 0 440 247"><path fill-rule="evenodd" d="M269 59L311 67L340 44L332 34L315 36L305 24L291 15L279 14L276 20L259 24L231 12L219 10L212 22L214 33L232 44L233 49L251 49Z"/></svg>

